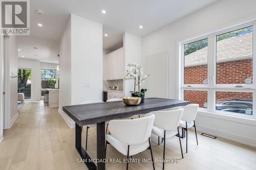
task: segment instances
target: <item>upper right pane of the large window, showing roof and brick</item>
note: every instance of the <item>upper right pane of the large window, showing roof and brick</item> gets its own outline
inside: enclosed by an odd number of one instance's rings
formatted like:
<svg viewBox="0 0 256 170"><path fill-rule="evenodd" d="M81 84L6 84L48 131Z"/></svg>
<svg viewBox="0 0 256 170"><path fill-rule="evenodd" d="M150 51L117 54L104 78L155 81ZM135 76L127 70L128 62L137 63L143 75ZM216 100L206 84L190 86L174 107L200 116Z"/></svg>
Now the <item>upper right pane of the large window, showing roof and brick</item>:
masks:
<svg viewBox="0 0 256 170"><path fill-rule="evenodd" d="M252 84L252 29L216 36L216 84Z"/></svg>

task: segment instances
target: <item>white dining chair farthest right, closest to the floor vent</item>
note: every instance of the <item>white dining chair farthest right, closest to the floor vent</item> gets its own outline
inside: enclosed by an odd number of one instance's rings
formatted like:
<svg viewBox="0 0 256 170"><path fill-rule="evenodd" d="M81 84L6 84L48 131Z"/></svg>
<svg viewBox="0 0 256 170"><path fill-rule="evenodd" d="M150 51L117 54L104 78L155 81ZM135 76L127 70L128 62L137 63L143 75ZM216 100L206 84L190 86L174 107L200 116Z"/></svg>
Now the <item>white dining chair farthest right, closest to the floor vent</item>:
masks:
<svg viewBox="0 0 256 170"><path fill-rule="evenodd" d="M187 153L187 129L195 127L195 134L197 139L197 129L196 129L196 115L199 108L199 104L189 104L186 106L180 106L184 109L183 115L180 120L180 127L186 131L186 153ZM198 140L197 140L198 145Z"/></svg>

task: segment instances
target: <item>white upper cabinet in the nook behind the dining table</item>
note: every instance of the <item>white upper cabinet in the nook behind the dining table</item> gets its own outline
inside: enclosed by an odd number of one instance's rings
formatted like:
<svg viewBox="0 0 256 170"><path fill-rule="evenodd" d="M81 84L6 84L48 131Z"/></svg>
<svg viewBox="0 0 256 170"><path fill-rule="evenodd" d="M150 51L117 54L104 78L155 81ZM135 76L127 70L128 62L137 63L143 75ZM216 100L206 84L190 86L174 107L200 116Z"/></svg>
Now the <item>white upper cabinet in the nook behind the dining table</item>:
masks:
<svg viewBox="0 0 256 170"><path fill-rule="evenodd" d="M124 54L123 48L120 48L105 56L104 79L117 80L124 76Z"/></svg>

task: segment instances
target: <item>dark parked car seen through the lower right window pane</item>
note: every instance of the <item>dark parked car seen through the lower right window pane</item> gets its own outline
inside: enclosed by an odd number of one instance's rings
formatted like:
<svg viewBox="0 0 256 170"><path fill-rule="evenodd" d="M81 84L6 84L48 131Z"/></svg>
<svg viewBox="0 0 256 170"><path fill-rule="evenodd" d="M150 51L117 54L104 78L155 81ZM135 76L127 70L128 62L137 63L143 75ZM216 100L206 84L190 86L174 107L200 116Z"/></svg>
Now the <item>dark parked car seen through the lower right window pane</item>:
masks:
<svg viewBox="0 0 256 170"><path fill-rule="evenodd" d="M242 114L252 114L252 99L233 99L216 104L216 110L230 111ZM246 110L249 110L246 112Z"/></svg>

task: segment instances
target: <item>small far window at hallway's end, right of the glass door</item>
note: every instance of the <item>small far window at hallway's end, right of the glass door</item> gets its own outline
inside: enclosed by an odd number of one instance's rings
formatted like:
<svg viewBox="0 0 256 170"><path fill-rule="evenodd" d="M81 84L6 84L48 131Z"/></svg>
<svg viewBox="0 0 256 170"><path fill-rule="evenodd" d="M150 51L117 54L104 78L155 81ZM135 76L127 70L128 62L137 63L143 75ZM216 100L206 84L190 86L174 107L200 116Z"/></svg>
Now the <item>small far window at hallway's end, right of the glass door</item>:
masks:
<svg viewBox="0 0 256 170"><path fill-rule="evenodd" d="M41 69L41 88L54 88L56 83L56 70Z"/></svg>

